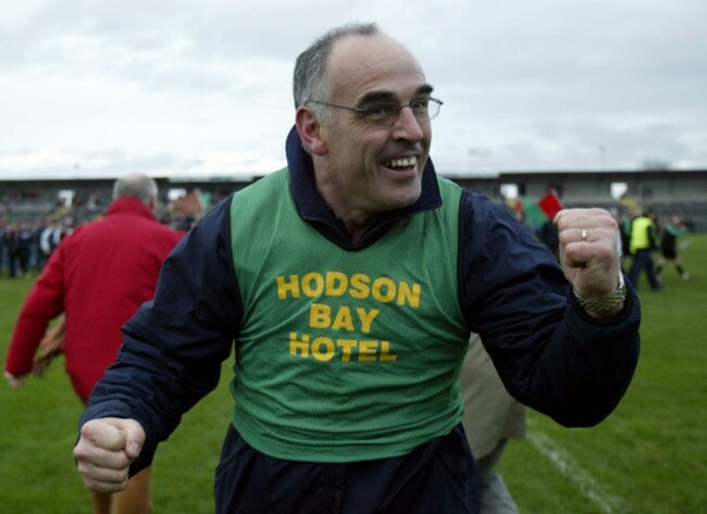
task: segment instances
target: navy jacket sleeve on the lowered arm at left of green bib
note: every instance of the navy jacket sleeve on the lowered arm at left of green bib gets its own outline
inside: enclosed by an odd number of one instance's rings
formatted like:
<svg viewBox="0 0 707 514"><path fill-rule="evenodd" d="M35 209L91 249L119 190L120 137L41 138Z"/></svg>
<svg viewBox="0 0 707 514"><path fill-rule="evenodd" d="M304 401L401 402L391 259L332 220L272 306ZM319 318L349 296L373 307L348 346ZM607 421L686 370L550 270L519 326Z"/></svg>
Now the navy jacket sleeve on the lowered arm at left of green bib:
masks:
<svg viewBox="0 0 707 514"><path fill-rule="evenodd" d="M230 247L230 201L207 213L164 262L152 301L123 327L115 363L97 384L80 425L137 419L147 439L133 464L148 466L182 415L219 384L241 317Z"/></svg>

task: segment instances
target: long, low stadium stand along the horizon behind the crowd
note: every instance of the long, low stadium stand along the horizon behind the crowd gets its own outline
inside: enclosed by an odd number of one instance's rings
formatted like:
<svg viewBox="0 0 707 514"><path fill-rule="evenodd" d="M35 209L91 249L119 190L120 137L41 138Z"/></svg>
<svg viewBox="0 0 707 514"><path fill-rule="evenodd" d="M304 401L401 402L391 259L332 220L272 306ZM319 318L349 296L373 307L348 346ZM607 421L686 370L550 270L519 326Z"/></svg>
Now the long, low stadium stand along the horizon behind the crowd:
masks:
<svg viewBox="0 0 707 514"><path fill-rule="evenodd" d="M707 230L707 170L504 172L493 176L450 179L498 202L538 199L554 190L565 206L652 209L657 215L678 214L694 231ZM198 216L231 192L259 177L154 177L163 217L181 223ZM0 177L0 220L41 223L70 217L74 224L94 218L110 203L114 178L3 179Z"/></svg>

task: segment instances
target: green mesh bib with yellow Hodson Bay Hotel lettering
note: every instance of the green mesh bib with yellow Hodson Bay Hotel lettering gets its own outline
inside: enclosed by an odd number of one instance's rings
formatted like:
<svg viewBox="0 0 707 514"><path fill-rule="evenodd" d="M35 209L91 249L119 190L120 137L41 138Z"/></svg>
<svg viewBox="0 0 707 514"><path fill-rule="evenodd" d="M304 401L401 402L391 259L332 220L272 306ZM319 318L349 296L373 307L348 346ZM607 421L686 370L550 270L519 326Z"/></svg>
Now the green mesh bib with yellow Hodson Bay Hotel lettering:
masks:
<svg viewBox="0 0 707 514"><path fill-rule="evenodd" d="M469 330L458 304L461 190L348 251L297 213L287 170L234 195L244 303L233 422L278 459L352 462L410 452L461 421Z"/></svg>

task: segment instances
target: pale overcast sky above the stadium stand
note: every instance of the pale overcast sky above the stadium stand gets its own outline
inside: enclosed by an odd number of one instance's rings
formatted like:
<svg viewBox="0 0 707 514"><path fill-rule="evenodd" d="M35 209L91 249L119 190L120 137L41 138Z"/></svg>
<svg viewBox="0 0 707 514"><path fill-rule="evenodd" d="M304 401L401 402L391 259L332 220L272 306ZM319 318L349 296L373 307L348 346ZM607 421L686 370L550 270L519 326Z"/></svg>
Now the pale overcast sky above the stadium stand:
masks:
<svg viewBox="0 0 707 514"><path fill-rule="evenodd" d="M0 177L261 175L297 54L377 22L448 175L707 167L705 0L3 0Z"/></svg>

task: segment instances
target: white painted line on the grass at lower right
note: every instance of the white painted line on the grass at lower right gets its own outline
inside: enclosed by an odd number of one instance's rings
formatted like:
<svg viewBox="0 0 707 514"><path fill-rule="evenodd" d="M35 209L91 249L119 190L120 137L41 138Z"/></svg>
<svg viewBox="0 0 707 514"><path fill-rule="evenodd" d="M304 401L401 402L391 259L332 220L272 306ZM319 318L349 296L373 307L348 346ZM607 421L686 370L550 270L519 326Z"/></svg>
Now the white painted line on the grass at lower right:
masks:
<svg viewBox="0 0 707 514"><path fill-rule="evenodd" d="M603 491L590 472L582 468L572 459L572 455L559 448L549 436L533 430L528 436L528 439L537 451L550 460L562 476L573 481L580 491L596 504L601 512L605 514L623 512L623 499L621 497L609 496Z"/></svg>

